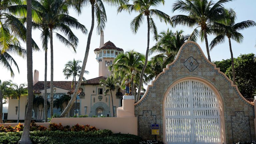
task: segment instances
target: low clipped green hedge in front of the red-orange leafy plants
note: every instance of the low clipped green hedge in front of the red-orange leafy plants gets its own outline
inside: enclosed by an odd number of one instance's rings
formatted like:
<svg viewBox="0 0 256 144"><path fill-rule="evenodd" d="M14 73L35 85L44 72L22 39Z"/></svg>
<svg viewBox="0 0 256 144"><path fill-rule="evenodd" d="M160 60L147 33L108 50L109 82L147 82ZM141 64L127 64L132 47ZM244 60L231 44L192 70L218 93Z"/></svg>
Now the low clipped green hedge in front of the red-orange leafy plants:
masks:
<svg viewBox="0 0 256 144"><path fill-rule="evenodd" d="M22 132L0 133L1 144L17 144ZM131 134L112 134L110 130L90 132L33 131L33 144L139 144L141 138Z"/></svg>

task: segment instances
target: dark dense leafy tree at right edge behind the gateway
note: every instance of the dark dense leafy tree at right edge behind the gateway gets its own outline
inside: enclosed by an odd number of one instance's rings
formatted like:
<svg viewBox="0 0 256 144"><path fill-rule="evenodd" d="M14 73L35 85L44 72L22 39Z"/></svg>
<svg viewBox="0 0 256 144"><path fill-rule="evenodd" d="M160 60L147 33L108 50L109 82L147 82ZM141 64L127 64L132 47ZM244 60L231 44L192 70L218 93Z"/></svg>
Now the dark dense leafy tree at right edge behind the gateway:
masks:
<svg viewBox="0 0 256 144"><path fill-rule="evenodd" d="M253 92L256 90L256 62L255 55L241 54L234 59L234 68L236 72L236 84L245 98L252 98ZM233 77L232 66L230 66L226 73L230 79Z"/></svg>

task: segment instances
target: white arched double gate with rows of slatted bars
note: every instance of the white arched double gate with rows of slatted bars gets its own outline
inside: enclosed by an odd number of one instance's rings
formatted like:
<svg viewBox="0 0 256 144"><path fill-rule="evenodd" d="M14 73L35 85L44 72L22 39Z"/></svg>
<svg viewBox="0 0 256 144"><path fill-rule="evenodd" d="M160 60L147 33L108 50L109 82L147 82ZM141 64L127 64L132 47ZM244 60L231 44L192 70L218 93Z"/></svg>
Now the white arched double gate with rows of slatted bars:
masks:
<svg viewBox="0 0 256 144"><path fill-rule="evenodd" d="M168 144L221 143L220 108L205 84L187 80L172 87L165 99Z"/></svg>

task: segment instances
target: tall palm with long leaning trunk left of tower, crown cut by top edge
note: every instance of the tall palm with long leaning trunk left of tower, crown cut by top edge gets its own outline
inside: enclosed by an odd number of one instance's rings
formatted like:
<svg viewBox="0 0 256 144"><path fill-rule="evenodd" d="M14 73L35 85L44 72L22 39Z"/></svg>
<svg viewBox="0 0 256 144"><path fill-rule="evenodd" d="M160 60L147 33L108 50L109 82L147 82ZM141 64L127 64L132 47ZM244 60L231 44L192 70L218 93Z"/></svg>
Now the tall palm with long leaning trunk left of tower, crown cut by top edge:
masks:
<svg viewBox="0 0 256 144"><path fill-rule="evenodd" d="M90 28L88 38L87 38L86 50L85 50L85 54L84 54L84 60L83 60L82 68L81 68L81 73L79 75L76 88L71 97L71 100L68 103L68 106L62 112L60 117L64 117L69 112L69 110L71 109L72 105L74 104L75 98L79 92L80 85L82 83L82 79L83 79L83 75L84 75L84 71L85 71L85 66L87 63L88 55L89 55L92 32L93 32L93 28L94 28L94 17L96 17L96 20L97 20L97 33L99 34L100 31L104 30L105 24L107 22L107 15L106 15L106 11L105 11L103 2L106 2L110 5L120 5L120 4L127 3L126 1L127 0L71 0L71 3L76 8L78 14L81 14L82 6L90 6L91 7L92 22L91 22L91 28Z"/></svg>

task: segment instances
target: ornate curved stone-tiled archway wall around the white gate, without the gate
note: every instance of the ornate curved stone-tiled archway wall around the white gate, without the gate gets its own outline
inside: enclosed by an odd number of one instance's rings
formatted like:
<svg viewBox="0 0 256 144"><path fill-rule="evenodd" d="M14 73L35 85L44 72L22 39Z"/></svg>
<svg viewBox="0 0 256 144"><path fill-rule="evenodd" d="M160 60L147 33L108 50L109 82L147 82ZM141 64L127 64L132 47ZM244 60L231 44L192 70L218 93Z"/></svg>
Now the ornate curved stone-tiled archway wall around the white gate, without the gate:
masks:
<svg viewBox="0 0 256 144"><path fill-rule="evenodd" d="M182 80L194 79L209 86L220 101L221 142L255 141L254 106L238 91L236 85L219 68L209 62L198 44L187 42L171 64L152 82L135 104L138 117L138 135L145 139L154 139L150 124L157 123L160 135L157 139L165 142L164 102L174 84ZM243 112L244 115L240 113ZM246 125L243 125L246 123ZM237 131L238 129L241 130ZM244 131L249 132L244 132ZM234 133L234 131L236 131Z"/></svg>

